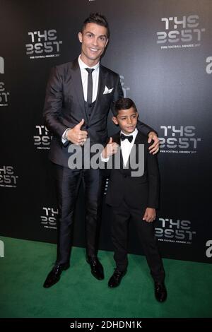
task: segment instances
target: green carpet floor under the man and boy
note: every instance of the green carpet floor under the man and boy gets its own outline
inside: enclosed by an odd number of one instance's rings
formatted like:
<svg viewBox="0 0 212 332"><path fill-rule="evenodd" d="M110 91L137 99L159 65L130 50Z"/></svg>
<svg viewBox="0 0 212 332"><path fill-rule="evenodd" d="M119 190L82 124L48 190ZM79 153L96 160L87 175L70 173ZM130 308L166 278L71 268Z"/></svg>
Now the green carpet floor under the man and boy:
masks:
<svg viewBox="0 0 212 332"><path fill-rule="evenodd" d="M74 247L71 267L59 283L42 287L52 268L56 245L1 237L0 317L145 318L212 317L211 264L163 259L167 301L155 300L153 281L143 256L129 255L128 272L116 289L107 287L113 254L99 251L105 280L96 280L85 249Z"/></svg>

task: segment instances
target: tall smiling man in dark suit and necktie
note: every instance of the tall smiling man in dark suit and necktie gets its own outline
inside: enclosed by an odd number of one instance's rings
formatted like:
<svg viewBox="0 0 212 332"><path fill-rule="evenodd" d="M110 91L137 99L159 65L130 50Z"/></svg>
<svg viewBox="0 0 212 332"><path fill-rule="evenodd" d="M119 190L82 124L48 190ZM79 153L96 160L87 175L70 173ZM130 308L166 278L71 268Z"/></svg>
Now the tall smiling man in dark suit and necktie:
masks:
<svg viewBox="0 0 212 332"><path fill-rule="evenodd" d="M102 264L97 257L100 170L84 167L85 160L80 168L72 169L68 161L69 148L74 145L84 149L88 138L90 146L105 144L108 112L123 95L119 75L100 64L109 37L106 18L98 13L90 14L78 33L81 55L73 62L55 66L47 84L44 118L53 134L49 158L54 164L59 218L57 261L47 275L44 287L57 283L61 272L69 268L73 211L81 180L86 195L86 260L95 278L104 278ZM142 123L139 128L150 141L153 139L151 153L156 153L159 140L153 129Z"/></svg>

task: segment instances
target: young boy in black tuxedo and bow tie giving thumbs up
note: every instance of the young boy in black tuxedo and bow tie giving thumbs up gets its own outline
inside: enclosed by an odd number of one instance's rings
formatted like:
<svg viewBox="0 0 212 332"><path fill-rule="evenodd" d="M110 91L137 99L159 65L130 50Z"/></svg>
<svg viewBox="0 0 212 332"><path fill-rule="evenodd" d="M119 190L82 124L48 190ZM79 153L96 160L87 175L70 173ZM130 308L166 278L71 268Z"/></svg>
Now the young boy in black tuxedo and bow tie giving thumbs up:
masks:
<svg viewBox="0 0 212 332"><path fill-rule="evenodd" d="M165 271L153 227L159 196L157 156L148 153L146 136L136 129L139 114L134 102L121 98L115 103L113 112L112 121L119 125L121 131L110 138L102 151L102 161L112 162L106 203L112 207L116 268L108 285L117 287L126 273L128 223L133 220L155 283L156 300L164 302L167 297ZM119 151L120 160L116 162ZM137 170L135 166L138 166Z"/></svg>

